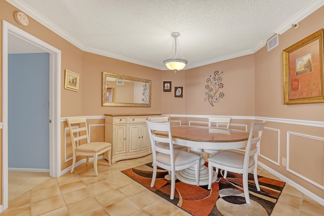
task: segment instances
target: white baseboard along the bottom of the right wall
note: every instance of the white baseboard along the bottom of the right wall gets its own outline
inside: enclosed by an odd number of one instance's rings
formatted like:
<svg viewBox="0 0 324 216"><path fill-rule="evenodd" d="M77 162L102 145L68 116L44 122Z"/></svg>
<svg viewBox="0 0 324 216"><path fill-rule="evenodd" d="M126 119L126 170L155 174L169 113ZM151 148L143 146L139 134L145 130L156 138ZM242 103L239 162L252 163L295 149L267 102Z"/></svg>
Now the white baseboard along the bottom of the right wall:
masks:
<svg viewBox="0 0 324 216"><path fill-rule="evenodd" d="M271 169L269 166L261 163L260 161L258 161L258 165L265 168L271 174L275 175L276 177L280 178L281 180L284 180L286 183L290 184L291 186L293 186L297 190L301 191L302 193L306 194L307 196L309 196L310 198L312 198L313 200L315 200L316 202L318 202L319 204L324 206L324 199L320 198L316 194L313 194L309 190L303 188L302 186L298 185L297 183L293 182L292 180L288 179L287 177L282 176L281 174L279 174L279 172Z"/></svg>

